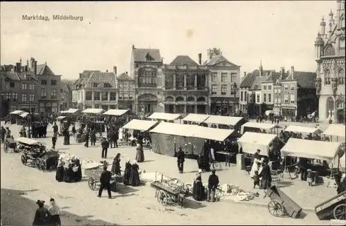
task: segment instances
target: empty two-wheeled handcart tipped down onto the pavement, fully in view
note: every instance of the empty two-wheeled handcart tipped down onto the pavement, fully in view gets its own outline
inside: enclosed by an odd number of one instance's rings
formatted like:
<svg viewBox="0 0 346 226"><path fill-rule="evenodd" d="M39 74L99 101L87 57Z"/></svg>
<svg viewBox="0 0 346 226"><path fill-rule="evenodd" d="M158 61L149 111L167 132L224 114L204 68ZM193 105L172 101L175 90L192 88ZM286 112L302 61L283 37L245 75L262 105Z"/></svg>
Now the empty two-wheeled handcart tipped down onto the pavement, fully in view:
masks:
<svg viewBox="0 0 346 226"><path fill-rule="evenodd" d="M302 207L291 200L279 188L275 187L275 185L267 189L265 193L266 196L271 198L271 201L268 203L268 211L271 215L277 217L291 216L291 218L300 216Z"/></svg>

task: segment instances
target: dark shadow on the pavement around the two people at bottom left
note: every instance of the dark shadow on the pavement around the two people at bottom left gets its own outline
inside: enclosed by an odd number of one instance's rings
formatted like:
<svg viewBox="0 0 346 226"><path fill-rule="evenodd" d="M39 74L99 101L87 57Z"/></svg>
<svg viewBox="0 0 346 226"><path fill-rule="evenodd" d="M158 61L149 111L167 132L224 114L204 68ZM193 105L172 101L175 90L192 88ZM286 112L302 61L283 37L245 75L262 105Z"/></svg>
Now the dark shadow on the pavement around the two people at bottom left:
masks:
<svg viewBox="0 0 346 226"><path fill-rule="evenodd" d="M1 220L3 225L31 225L37 209L36 202L21 196L30 191L19 191L1 188ZM37 197L39 199L39 197ZM46 200L48 203L49 200ZM59 199L57 199L59 204ZM77 216L69 212L65 212L62 208L62 225L116 225L107 223L103 220L90 220L93 216Z"/></svg>

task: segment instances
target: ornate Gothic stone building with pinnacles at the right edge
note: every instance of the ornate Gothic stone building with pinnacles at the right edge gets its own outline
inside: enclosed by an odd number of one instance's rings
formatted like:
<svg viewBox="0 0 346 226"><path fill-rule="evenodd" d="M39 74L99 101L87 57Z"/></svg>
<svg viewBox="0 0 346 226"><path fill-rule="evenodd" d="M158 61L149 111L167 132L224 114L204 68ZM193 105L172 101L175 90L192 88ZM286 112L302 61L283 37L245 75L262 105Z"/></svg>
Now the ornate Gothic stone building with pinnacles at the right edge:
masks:
<svg viewBox="0 0 346 226"><path fill-rule="evenodd" d="M336 17L322 18L315 41L316 93L319 120L345 123L345 1L336 3Z"/></svg>

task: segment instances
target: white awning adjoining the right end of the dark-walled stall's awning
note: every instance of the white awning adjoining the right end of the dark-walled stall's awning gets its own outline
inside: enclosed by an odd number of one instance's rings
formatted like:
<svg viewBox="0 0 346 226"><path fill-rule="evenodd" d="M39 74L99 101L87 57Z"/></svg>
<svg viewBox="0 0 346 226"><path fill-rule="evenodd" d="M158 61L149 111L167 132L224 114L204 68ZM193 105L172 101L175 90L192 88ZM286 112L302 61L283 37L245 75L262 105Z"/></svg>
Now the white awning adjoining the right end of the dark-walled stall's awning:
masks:
<svg viewBox="0 0 346 226"><path fill-rule="evenodd" d="M204 126L196 126L195 128L196 129L194 130L194 134L192 135L192 137L194 138L224 141L226 140L226 138L228 138L229 135L240 137L240 134L237 133L237 131L235 131L234 129L215 129Z"/></svg>

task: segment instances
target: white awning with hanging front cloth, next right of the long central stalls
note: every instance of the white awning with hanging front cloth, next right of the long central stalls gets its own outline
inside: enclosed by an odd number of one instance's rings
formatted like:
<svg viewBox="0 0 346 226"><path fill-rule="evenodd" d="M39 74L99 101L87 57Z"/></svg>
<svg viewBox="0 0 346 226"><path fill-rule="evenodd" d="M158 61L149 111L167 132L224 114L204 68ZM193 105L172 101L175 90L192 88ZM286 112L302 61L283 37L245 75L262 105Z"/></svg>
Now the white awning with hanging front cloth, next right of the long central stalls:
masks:
<svg viewBox="0 0 346 226"><path fill-rule="evenodd" d="M239 138L238 143L245 153L254 154L257 149L260 149L261 156L268 156L269 145L275 138L277 135L274 134L245 132L242 138Z"/></svg>

